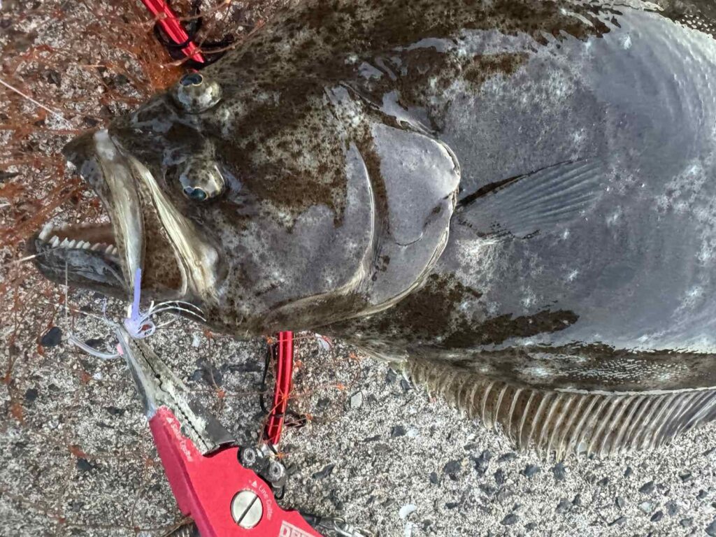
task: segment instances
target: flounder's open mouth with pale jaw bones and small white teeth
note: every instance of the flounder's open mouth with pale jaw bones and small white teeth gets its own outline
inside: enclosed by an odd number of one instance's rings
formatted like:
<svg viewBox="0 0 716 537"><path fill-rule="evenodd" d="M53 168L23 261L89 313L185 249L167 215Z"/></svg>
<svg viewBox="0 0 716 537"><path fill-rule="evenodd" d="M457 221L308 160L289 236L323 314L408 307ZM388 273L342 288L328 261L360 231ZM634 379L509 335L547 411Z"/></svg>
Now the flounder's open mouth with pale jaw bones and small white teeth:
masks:
<svg viewBox="0 0 716 537"><path fill-rule="evenodd" d="M179 211L156 163L142 163L107 130L87 132L63 152L100 197L110 224L42 228L28 248L45 276L127 298L141 269L142 293L152 299L216 301L227 274L221 248Z"/></svg>

